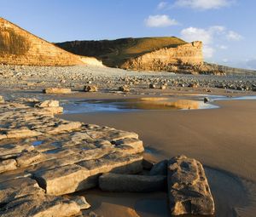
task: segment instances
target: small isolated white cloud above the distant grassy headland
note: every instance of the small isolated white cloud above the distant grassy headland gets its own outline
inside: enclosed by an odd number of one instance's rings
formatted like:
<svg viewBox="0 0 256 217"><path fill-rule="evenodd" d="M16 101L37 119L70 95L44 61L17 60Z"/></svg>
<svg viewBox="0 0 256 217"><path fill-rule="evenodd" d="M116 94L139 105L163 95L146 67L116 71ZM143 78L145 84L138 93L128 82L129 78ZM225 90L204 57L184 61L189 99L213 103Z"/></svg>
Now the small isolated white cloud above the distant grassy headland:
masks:
<svg viewBox="0 0 256 217"><path fill-rule="evenodd" d="M168 15L150 15L145 20L146 26L148 27L167 27L178 25L177 21L171 19Z"/></svg>

